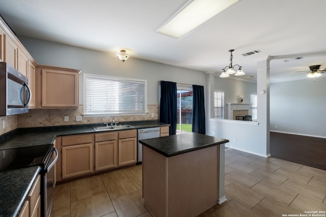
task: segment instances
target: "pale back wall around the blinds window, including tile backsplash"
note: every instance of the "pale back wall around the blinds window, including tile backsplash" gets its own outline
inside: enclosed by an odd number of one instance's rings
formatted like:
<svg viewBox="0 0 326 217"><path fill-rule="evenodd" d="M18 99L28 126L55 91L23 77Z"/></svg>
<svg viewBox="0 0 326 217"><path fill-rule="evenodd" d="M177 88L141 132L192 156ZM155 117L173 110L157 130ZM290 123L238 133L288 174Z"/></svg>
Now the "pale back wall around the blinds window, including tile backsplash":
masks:
<svg viewBox="0 0 326 217"><path fill-rule="evenodd" d="M153 61L133 58L122 63L115 54L89 50L59 43L53 43L28 37L19 37L25 48L40 65L66 67L82 70L79 77L78 109L31 109L29 113L0 117L6 119L6 129L0 126L0 135L16 128L79 125L87 123L103 123L115 121L138 121L158 119L158 81L174 81L178 83L205 86L204 72L190 70ZM83 114L83 74L100 74L126 78L147 80L147 115L84 117L83 121L75 121L76 115ZM154 117L151 114L154 113ZM64 116L69 121L64 121Z"/></svg>

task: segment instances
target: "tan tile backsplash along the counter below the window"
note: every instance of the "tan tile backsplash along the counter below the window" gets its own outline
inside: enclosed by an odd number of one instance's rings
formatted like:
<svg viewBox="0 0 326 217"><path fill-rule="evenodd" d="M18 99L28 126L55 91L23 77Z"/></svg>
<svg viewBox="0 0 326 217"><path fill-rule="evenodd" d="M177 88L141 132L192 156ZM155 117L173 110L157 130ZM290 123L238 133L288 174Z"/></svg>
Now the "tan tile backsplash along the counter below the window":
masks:
<svg viewBox="0 0 326 217"><path fill-rule="evenodd" d="M83 124L90 124L90 123L111 122L112 119L114 119L116 122L158 119L158 105L147 105L147 110L148 113L146 115L125 115L125 116L105 116L105 117L83 116L82 121L76 121L76 116L83 114L84 111L83 105L79 105L78 109L30 109L29 113L13 115L13 116L17 116L16 128L83 125ZM154 117L151 116L152 113L154 113ZM65 115L69 117L68 121L64 121ZM9 131L7 131L6 129L6 132Z"/></svg>

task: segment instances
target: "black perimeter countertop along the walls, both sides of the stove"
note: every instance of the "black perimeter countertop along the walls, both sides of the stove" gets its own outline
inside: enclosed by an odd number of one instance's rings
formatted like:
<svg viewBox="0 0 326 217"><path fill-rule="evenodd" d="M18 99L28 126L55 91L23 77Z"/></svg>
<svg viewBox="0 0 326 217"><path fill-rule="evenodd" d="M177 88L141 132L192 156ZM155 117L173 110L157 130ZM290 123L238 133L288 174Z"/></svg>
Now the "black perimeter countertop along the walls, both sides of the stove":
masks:
<svg viewBox="0 0 326 217"><path fill-rule="evenodd" d="M139 121L121 124L132 125L134 127L132 129L169 126L167 123L160 123L157 121ZM57 136L102 133L105 131L95 131L93 128L102 125L102 123L99 123L95 125L20 128L0 136L0 150L52 144ZM25 201L25 197L32 187L32 183L39 171L39 167L27 167L0 172L0 217L16 216L19 213Z"/></svg>

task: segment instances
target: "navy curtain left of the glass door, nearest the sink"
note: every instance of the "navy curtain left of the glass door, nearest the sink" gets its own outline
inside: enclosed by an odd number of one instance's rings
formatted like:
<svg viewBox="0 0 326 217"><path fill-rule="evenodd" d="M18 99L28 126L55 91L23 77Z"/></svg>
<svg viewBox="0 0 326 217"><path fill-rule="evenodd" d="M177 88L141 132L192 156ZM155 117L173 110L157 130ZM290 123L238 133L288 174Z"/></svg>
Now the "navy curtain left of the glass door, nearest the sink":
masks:
<svg viewBox="0 0 326 217"><path fill-rule="evenodd" d="M159 121L170 123L170 135L177 133L177 83L161 81Z"/></svg>

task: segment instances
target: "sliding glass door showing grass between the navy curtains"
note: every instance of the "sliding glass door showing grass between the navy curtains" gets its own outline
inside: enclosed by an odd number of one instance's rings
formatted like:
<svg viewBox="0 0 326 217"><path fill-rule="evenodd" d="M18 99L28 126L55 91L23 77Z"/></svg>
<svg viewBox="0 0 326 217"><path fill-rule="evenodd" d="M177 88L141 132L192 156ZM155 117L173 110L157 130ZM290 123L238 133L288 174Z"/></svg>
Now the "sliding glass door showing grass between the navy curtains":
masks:
<svg viewBox="0 0 326 217"><path fill-rule="evenodd" d="M177 89L177 134L192 132L193 89Z"/></svg>

